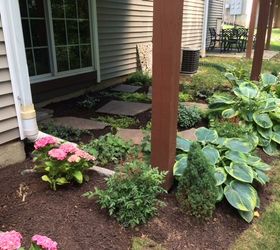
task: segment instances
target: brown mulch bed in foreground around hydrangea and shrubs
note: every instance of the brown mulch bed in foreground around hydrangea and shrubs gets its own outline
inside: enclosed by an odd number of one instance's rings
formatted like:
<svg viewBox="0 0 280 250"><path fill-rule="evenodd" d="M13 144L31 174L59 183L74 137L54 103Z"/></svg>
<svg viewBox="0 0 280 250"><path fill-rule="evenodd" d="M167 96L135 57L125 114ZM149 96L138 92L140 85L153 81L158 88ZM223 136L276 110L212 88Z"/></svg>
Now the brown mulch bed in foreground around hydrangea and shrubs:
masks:
<svg viewBox="0 0 280 250"><path fill-rule="evenodd" d="M226 202L217 206L213 218L198 221L180 211L174 192L162 196L166 206L147 225L125 229L94 200L82 194L104 187L104 178L92 172L90 181L54 192L37 174L22 176L31 160L0 169L0 230L17 230L28 239L44 234L61 249L129 249L134 236L146 235L167 249L228 249L248 224ZM26 189L25 201L19 195ZM260 191L261 204L269 203L269 185Z"/></svg>

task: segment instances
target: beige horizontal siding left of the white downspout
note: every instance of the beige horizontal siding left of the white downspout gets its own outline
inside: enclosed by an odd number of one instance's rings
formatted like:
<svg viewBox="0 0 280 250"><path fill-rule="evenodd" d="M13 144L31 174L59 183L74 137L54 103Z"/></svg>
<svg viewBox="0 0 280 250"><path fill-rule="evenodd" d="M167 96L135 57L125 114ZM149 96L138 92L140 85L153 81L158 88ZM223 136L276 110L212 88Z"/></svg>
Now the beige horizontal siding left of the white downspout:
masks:
<svg viewBox="0 0 280 250"><path fill-rule="evenodd" d="M0 17L0 145L17 138L18 120Z"/></svg>

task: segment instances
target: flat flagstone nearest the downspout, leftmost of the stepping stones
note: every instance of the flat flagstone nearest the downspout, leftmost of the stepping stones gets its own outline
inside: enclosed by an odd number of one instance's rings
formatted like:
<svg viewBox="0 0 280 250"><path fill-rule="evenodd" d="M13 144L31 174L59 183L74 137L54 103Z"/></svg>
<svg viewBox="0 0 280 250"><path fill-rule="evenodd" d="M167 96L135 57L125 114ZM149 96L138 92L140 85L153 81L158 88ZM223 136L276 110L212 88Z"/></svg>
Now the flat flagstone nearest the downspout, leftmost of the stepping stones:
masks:
<svg viewBox="0 0 280 250"><path fill-rule="evenodd" d="M74 129L81 129L81 130L97 130L97 129L104 129L105 127L109 126L104 122L78 118L73 116L56 117L43 121L43 123L49 123L49 122L53 122L55 125L58 126L70 127Z"/></svg>

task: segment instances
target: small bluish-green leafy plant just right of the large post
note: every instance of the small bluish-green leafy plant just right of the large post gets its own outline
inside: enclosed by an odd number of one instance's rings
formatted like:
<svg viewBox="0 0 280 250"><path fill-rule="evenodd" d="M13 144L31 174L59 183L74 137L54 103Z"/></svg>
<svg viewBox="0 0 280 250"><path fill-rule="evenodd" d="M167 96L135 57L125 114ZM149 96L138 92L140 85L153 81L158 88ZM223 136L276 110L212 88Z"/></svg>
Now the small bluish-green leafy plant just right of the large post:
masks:
<svg viewBox="0 0 280 250"><path fill-rule="evenodd" d="M197 107L187 107L184 104L179 105L178 125L181 128L191 128L201 119L201 111Z"/></svg>

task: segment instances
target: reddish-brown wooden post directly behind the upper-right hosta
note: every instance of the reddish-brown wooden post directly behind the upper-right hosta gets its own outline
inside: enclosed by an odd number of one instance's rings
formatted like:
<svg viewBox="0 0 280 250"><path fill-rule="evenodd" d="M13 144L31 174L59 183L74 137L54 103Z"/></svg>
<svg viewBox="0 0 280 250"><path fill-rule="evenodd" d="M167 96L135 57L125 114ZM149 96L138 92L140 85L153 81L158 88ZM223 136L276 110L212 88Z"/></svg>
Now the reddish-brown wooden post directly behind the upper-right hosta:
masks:
<svg viewBox="0 0 280 250"><path fill-rule="evenodd" d="M259 20L256 36L256 48L251 71L251 80L259 80L262 69L265 36L269 17L270 0L261 0L259 8Z"/></svg>

